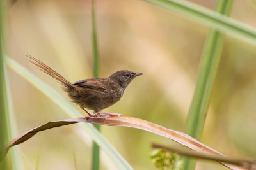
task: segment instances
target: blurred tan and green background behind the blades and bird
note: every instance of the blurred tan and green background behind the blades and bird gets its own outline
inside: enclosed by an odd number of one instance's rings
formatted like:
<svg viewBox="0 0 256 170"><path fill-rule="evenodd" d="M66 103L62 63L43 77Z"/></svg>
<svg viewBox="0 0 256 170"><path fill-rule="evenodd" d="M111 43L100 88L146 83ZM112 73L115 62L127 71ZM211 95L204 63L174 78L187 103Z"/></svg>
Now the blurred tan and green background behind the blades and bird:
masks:
<svg viewBox="0 0 256 170"><path fill-rule="evenodd" d="M192 2L211 10L216 4L210 0ZM70 101L60 83L38 71L24 53L71 82L92 78L90 1L18 0L9 6L8 14L8 55ZM118 103L104 111L184 131L209 27L138 0L97 0L96 16L100 77L119 69L144 73L132 81ZM230 17L256 27L256 8L248 1L234 1ZM202 143L232 157L256 157L255 73L255 45L226 36ZM69 118L11 69L8 76L17 134ZM169 139L127 127L102 126L102 134L134 169L156 169L149 158L152 142L181 147ZM77 124L40 132L20 147L24 169L75 169L74 154L77 169L90 169L92 139ZM101 157L101 169L118 169L106 154ZM196 169L227 168L200 161Z"/></svg>

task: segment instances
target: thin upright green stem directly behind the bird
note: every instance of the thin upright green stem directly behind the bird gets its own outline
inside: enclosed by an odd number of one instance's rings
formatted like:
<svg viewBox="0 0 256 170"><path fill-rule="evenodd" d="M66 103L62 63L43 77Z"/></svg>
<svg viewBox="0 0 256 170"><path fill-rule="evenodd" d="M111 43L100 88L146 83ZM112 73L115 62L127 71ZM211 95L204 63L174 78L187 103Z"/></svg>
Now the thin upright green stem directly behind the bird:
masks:
<svg viewBox="0 0 256 170"><path fill-rule="evenodd" d="M97 29L96 29L96 17L95 17L95 1L92 0L92 44L93 44L93 76L99 77L99 50L97 44ZM100 131L100 125L94 124L94 127ZM92 170L99 170L100 162L100 148L97 143L93 142L92 151Z"/></svg>

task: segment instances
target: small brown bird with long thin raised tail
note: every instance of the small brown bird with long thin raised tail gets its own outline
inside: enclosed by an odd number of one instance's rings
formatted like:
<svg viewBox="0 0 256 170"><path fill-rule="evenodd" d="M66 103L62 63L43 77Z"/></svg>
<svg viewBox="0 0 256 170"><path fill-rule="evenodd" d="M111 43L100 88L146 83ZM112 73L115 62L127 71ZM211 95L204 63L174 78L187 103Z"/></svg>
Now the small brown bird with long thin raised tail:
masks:
<svg viewBox="0 0 256 170"><path fill-rule="evenodd" d="M100 114L100 110L108 108L119 101L124 94L124 90L131 81L143 73L134 73L128 70L120 70L111 74L108 78L88 78L75 83L70 83L56 71L46 66L40 60L35 59L31 55L26 55L29 62L35 64L38 69L49 74L64 85L64 90L72 101L78 104L89 116L95 117ZM84 108L94 110L95 114L91 114ZM120 116L117 113L104 113L104 115Z"/></svg>

